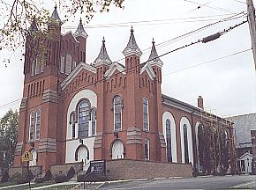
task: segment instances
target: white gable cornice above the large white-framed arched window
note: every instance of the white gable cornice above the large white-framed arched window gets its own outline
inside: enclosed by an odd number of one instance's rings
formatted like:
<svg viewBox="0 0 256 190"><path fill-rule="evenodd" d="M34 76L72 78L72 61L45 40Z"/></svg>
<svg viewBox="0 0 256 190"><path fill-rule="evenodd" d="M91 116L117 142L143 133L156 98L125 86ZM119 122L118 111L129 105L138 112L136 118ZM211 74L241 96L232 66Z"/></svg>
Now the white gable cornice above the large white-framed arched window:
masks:
<svg viewBox="0 0 256 190"><path fill-rule="evenodd" d="M72 79L74 79L74 77L77 77L77 75L82 69L87 69L88 71L91 71L96 74L96 68L94 68L93 66L85 62L79 62L78 66L75 67L75 69L72 70L72 72L68 75L68 77L64 79L64 82L62 82L61 84L61 88L64 89L68 84L70 84Z"/></svg>

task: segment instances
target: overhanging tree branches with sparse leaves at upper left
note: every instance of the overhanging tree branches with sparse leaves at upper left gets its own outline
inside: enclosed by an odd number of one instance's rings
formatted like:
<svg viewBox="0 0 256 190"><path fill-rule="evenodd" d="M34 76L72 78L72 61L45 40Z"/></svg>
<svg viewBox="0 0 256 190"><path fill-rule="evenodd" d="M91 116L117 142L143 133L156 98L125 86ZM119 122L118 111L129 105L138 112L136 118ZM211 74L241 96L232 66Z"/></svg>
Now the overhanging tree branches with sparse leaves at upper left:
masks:
<svg viewBox="0 0 256 190"><path fill-rule="evenodd" d="M12 3L10 3L12 2ZM26 33L33 20L43 30L49 23L49 10L45 4L53 1L40 0L0 0L0 50L4 48L15 51L25 46ZM66 14L63 22L80 13L87 22L95 12L109 11L111 4L123 8L124 0L59 0L58 7Z"/></svg>

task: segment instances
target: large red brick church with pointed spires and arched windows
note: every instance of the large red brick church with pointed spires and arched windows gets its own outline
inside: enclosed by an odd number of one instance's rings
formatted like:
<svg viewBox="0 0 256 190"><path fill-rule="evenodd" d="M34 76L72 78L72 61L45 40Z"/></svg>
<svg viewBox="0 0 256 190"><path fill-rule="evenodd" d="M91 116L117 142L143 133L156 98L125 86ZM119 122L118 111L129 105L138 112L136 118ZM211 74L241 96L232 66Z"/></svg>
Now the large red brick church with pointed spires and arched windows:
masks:
<svg viewBox="0 0 256 190"><path fill-rule="evenodd" d="M134 31L124 47L124 62L112 62L105 44L87 63L88 35L80 20L75 33L61 33L55 10L48 26L46 51L36 51L27 35L24 90L14 166L31 151L30 165L132 159L199 165L199 107L162 94L162 65L152 42L147 60ZM40 33L33 22L33 33ZM34 54L36 52L36 54ZM143 62L143 63L142 63ZM215 116L221 125L225 122ZM228 130L229 135L232 129Z"/></svg>

